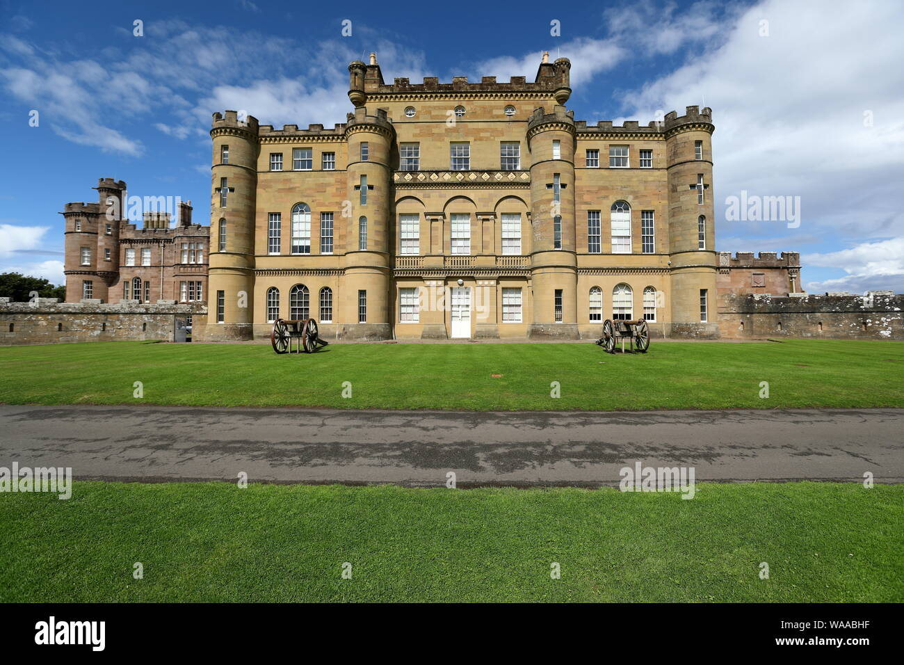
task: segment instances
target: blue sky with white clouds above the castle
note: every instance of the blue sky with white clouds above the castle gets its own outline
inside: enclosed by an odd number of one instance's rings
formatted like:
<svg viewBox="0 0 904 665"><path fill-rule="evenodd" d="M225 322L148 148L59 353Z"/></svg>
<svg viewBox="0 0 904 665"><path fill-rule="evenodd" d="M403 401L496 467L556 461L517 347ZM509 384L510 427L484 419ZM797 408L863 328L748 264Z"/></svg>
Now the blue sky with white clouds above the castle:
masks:
<svg viewBox="0 0 904 665"><path fill-rule="evenodd" d="M351 108L346 66L368 52L387 80L506 81L532 79L549 50L572 62L576 119L711 106L717 249L801 252L807 290L904 291L902 26L904 4L885 0L0 0L0 271L60 282L57 213L96 200L101 176L191 199L207 223L213 111L332 126ZM742 192L792 197L799 223L725 219Z"/></svg>

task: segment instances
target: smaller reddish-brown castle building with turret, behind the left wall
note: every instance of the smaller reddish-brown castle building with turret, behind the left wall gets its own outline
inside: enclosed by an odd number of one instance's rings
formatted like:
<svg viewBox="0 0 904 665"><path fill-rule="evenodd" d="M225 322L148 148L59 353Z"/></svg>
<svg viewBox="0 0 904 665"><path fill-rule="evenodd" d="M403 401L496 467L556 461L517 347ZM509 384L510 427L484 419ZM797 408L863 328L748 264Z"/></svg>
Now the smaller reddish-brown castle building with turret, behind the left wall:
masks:
<svg viewBox="0 0 904 665"><path fill-rule="evenodd" d="M66 204L66 301L157 300L203 302L207 299L210 227L192 223L192 202L171 215L143 213L143 227L125 219L126 183L100 178L98 203Z"/></svg>

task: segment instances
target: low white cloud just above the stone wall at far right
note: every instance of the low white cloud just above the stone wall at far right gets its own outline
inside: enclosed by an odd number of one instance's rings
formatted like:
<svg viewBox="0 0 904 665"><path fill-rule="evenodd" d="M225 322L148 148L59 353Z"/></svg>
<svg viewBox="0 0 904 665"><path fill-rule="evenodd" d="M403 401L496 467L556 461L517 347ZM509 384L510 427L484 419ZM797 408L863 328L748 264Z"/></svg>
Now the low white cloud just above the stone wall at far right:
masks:
<svg viewBox="0 0 904 665"><path fill-rule="evenodd" d="M842 266L847 273L833 280L813 281L812 291L895 290L904 293L904 238L861 242L839 252L805 254L804 266Z"/></svg>

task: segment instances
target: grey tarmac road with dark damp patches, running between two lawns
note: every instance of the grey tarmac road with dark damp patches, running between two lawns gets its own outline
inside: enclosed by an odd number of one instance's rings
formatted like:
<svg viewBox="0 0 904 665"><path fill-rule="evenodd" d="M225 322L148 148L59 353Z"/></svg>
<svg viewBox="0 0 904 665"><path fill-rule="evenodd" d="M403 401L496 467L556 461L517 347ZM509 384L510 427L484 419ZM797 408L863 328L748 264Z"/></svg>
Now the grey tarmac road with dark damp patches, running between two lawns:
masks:
<svg viewBox="0 0 904 665"><path fill-rule="evenodd" d="M904 481L904 409L333 411L0 404L0 467L77 480L458 487L618 484L619 470L704 480Z"/></svg>

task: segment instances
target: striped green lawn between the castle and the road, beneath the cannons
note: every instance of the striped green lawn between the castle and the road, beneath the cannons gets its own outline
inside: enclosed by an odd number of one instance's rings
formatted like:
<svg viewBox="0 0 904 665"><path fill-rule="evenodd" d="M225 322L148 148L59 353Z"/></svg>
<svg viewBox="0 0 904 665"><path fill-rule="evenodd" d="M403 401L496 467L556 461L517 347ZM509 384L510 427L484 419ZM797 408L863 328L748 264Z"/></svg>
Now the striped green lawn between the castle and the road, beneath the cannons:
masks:
<svg viewBox="0 0 904 665"><path fill-rule="evenodd" d="M0 402L387 409L904 407L904 342L269 345L108 342L0 347ZM493 375L501 375L494 377ZM144 397L133 396L134 383ZM352 398L342 396L344 382ZM551 397L551 382L560 398ZM760 382L769 384L761 399Z"/></svg>

